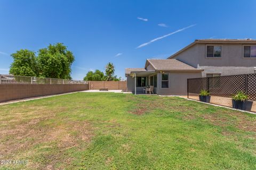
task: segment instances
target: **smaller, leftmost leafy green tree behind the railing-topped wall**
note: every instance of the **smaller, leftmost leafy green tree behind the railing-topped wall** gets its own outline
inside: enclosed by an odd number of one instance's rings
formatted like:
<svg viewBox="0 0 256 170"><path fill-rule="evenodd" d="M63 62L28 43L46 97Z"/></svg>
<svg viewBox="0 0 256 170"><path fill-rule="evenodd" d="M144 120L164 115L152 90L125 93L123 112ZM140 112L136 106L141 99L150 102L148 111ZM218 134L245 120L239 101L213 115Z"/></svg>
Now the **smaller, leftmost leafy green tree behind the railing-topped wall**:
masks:
<svg viewBox="0 0 256 170"><path fill-rule="evenodd" d="M11 56L13 63L10 66L10 74L24 76L36 76L38 74L35 52L21 49Z"/></svg>

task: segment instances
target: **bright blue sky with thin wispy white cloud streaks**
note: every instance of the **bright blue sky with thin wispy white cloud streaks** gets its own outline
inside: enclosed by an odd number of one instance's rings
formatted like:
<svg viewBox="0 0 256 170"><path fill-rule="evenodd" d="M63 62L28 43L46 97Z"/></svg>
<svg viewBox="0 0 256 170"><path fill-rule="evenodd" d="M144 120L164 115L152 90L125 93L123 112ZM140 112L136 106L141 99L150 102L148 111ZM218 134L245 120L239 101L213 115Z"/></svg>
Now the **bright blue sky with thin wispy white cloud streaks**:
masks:
<svg viewBox="0 0 256 170"><path fill-rule="evenodd" d="M10 54L64 43L75 55L71 77L113 62L143 67L195 39L256 39L256 1L0 1L0 73Z"/></svg>

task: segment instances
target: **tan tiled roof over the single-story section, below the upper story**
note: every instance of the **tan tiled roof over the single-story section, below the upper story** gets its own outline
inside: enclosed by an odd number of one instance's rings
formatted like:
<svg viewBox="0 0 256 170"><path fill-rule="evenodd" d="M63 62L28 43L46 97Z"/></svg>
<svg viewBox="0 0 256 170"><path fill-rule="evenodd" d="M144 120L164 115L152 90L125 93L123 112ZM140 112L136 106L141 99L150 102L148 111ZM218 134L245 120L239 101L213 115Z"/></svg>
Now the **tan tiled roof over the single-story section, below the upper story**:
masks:
<svg viewBox="0 0 256 170"><path fill-rule="evenodd" d="M147 60L157 71L167 71L167 70L191 70L191 71L199 71L201 69L197 69L193 66L190 66L186 63L183 63L176 59L148 59Z"/></svg>

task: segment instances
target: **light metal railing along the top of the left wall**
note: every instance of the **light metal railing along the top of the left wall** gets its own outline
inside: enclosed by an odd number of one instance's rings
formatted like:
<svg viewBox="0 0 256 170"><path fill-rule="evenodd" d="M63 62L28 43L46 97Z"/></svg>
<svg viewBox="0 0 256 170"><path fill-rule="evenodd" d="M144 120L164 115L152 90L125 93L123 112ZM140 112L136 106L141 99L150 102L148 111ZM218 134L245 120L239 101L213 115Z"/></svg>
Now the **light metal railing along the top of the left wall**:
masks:
<svg viewBox="0 0 256 170"><path fill-rule="evenodd" d="M0 84L87 84L87 81L0 74Z"/></svg>

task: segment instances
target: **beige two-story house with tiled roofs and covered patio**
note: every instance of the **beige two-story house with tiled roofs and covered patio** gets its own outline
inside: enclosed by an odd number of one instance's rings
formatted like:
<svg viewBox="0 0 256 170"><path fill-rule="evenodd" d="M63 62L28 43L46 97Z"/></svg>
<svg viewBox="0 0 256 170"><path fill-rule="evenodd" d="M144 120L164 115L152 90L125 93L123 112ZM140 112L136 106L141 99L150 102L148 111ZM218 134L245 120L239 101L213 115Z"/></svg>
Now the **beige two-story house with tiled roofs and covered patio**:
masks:
<svg viewBox="0 0 256 170"><path fill-rule="evenodd" d="M185 95L187 79L256 71L256 40L195 40L165 60L146 60L145 67L125 69L127 90L143 94L154 86L155 94Z"/></svg>

